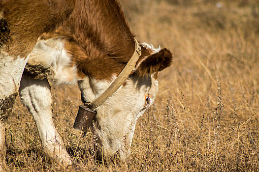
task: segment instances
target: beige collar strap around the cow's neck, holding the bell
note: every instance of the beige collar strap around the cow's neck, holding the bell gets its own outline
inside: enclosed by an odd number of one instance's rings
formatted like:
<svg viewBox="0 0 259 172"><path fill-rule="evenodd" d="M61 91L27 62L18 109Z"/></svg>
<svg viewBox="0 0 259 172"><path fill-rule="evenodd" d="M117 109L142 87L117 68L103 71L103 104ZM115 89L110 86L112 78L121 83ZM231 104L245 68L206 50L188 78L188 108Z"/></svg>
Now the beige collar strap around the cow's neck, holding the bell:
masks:
<svg viewBox="0 0 259 172"><path fill-rule="evenodd" d="M90 109L95 110L99 107L103 102L105 102L114 92L116 92L119 87L123 84L123 82L129 77L129 74L134 69L138 58L141 56L141 47L139 43L135 40L135 51L132 57L129 59L129 62L124 67L119 76L114 80L114 82L93 102L87 104Z"/></svg>

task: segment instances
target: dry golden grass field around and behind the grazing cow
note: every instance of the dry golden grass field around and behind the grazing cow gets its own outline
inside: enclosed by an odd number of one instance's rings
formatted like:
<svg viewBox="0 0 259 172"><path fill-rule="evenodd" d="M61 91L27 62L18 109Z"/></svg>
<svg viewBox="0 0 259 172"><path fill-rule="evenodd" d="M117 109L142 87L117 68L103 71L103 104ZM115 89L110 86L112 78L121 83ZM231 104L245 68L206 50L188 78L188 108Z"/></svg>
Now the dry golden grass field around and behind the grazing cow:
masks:
<svg viewBox="0 0 259 172"><path fill-rule="evenodd" d="M155 104L138 121L131 155L98 163L92 133L72 128L77 86L52 87L53 119L69 171L259 171L259 1L121 0L132 32L173 53ZM32 115L17 98L6 129L10 171L63 171L44 159Z"/></svg>

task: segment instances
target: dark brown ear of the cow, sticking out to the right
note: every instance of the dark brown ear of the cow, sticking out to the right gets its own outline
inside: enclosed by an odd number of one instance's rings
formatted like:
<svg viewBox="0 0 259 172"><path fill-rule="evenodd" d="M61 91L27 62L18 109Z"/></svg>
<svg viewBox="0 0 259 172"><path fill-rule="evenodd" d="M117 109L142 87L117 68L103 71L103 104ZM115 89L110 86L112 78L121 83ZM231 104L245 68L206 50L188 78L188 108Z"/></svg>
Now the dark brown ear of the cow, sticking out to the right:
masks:
<svg viewBox="0 0 259 172"><path fill-rule="evenodd" d="M171 65L172 58L172 53L164 48L139 62L135 68L135 72L138 76L144 77L162 71Z"/></svg>

